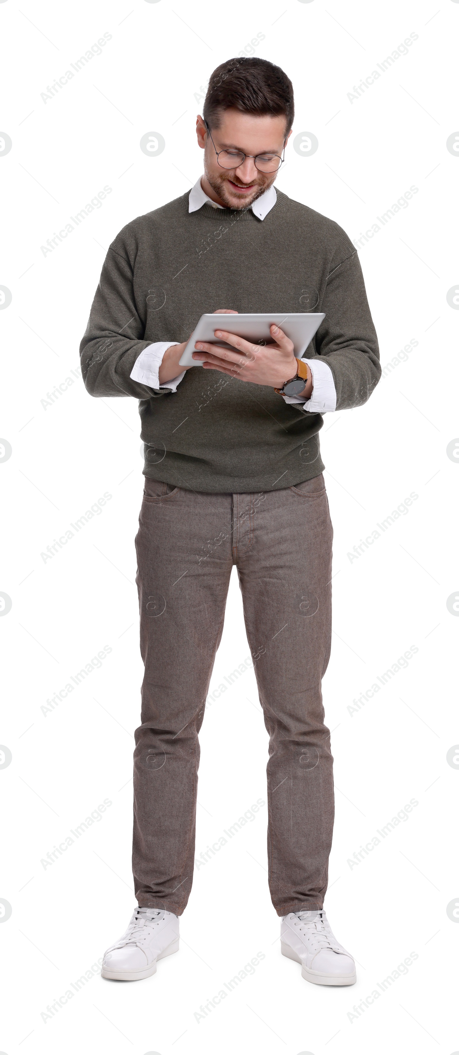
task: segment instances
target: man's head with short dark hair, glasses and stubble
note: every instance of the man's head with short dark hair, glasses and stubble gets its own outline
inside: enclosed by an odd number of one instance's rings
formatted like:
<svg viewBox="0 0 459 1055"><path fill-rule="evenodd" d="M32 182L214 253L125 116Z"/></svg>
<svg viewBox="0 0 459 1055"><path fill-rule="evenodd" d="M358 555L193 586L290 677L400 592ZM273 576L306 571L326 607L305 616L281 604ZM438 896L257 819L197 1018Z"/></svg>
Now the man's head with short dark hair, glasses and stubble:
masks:
<svg viewBox="0 0 459 1055"><path fill-rule="evenodd" d="M272 62L234 58L213 71L196 134L206 181L222 205L247 209L274 183L293 116L292 83ZM236 151L264 159L241 164Z"/></svg>

